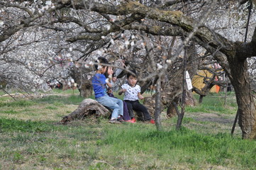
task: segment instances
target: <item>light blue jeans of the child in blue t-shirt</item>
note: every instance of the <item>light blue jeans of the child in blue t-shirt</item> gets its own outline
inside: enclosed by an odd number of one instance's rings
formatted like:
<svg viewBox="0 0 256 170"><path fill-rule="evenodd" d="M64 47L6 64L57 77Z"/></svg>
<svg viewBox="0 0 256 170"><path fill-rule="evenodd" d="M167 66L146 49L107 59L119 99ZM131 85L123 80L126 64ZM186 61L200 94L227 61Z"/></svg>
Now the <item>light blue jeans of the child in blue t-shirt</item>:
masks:
<svg viewBox="0 0 256 170"><path fill-rule="evenodd" d="M96 101L103 106L113 109L111 119L118 118L118 115L123 115L123 101L118 98L111 98L108 95L95 98Z"/></svg>

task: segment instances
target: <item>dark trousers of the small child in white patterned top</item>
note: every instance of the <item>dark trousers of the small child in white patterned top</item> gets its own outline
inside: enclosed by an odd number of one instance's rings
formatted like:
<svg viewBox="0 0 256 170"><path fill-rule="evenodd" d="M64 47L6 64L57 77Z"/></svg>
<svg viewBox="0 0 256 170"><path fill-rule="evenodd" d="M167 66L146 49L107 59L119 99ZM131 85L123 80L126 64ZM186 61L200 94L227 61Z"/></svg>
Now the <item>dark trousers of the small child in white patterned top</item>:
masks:
<svg viewBox="0 0 256 170"><path fill-rule="evenodd" d="M148 109L145 106L143 106L142 104L140 104L140 102L138 100L137 101L125 101L125 102L127 104L130 118L134 118L134 113L133 113L133 110L134 110L134 111L143 113L144 120L151 119L150 113L148 113Z"/></svg>

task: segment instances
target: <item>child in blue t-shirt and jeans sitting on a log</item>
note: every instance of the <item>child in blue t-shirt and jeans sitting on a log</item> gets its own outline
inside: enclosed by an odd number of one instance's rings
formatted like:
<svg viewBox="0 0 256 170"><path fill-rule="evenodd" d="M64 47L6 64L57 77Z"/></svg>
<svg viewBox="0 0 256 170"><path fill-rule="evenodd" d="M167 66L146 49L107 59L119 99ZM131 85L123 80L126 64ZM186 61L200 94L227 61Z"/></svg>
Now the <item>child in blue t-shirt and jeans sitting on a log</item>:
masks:
<svg viewBox="0 0 256 170"><path fill-rule="evenodd" d="M97 62L99 62L99 64L94 65L96 74L94 77L92 77L95 100L101 103L103 106L113 109L111 120L109 120L110 123L119 123L118 120L123 120L123 101L118 98L111 98L108 96L106 93L106 85L112 87L112 84L104 75L107 66L102 65L108 64L108 61L104 57L99 57Z"/></svg>

